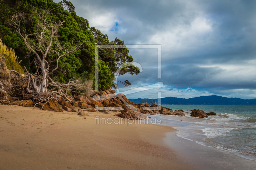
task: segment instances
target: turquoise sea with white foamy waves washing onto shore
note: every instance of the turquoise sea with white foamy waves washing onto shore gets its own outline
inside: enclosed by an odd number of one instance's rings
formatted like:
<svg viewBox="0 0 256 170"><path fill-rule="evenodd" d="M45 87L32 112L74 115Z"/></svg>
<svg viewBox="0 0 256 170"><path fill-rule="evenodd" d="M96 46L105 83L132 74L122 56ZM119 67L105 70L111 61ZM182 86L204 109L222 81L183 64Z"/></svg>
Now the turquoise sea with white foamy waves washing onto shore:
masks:
<svg viewBox="0 0 256 170"><path fill-rule="evenodd" d="M245 159L256 160L256 105L162 106L184 110L185 116L157 115L164 124L178 129L176 133L179 137L232 152ZM193 109L217 115L208 118L190 117ZM180 117L188 118L181 122Z"/></svg>

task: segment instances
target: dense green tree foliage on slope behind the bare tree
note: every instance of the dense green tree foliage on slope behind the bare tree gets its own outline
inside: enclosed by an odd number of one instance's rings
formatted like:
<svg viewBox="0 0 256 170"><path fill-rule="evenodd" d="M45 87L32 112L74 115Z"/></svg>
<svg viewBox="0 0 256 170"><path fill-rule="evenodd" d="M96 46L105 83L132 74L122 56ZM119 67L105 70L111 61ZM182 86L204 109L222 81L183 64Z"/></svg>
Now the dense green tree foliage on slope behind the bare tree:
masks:
<svg viewBox="0 0 256 170"><path fill-rule="evenodd" d="M36 32L35 18L28 19L32 16L32 11L49 10L48 18L52 21L65 21L64 25L58 29L59 41L61 44L78 43L83 44L73 54L65 55L59 60L59 67L54 72L54 77L60 82L67 82L69 79L76 77L87 80L93 80L95 85L95 45L105 44L112 45L113 48L100 49L99 53L99 88L109 88L115 79L114 73L123 63L132 62L132 56L128 55L127 48L116 48L115 45L124 45L124 41L116 38L109 41L108 36L102 34L94 27L89 27L87 19L76 15L75 6L69 1L63 0L60 3L54 3L53 0L0 0L0 38L9 47L15 49L16 55L22 59L21 64L30 68L31 73L36 72L33 64L34 54L29 54L29 50L24 46L20 35L8 27L8 19L11 14L24 12L27 19L22 21L21 29L26 33ZM31 39L33 41L33 39ZM36 41L35 41L36 42ZM54 47L52 47L54 48ZM25 57L26 56L26 57ZM56 54L48 53L47 60L51 62L51 67L56 66ZM31 64L32 63L32 64ZM128 66L120 71L119 75L138 74L139 68ZM127 80L127 82L129 82ZM129 85L129 83L127 83Z"/></svg>

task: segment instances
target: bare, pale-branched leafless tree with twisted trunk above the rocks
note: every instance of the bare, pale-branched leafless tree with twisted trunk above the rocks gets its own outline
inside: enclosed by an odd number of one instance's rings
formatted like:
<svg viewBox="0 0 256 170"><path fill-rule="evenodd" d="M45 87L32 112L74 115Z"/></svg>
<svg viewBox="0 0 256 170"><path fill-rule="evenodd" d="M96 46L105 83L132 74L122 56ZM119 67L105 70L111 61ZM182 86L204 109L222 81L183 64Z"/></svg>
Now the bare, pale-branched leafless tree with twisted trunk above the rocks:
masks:
<svg viewBox="0 0 256 170"><path fill-rule="evenodd" d="M34 61L37 69L36 74L32 75L28 73L28 70L25 68L29 77L28 85L26 88L29 93L40 94L47 92L47 87L49 84L48 81L52 81L49 76L58 69L58 62L60 57L68 55L81 47L81 44L74 43L66 43L64 45L61 45L60 41L58 40L59 36L57 34L57 31L58 28L63 25L64 21L59 21L59 23L57 23L56 20L54 20L53 22L47 19L48 14L49 11L33 11L32 17L30 17L29 19L32 20L36 18L38 22L36 25L36 32L31 34L25 33L21 29L21 23L26 18L25 13L13 14L11 16L11 19L9 20L9 25L14 29L14 31L20 34L26 47L30 50L30 52L36 55L37 61ZM57 58L55 60L56 67L51 68L51 70L50 64L47 61L47 54L49 51L52 51L57 55ZM41 70L39 71L39 69ZM29 89L30 78L34 90ZM52 85L54 85L53 81L51 83Z"/></svg>

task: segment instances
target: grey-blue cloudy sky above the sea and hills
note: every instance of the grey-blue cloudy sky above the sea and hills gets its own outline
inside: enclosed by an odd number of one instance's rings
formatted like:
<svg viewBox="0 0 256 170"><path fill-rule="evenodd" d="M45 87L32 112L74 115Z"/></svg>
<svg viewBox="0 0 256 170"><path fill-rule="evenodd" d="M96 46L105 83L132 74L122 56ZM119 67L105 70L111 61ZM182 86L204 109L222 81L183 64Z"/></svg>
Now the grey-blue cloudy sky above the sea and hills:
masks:
<svg viewBox="0 0 256 170"><path fill-rule="evenodd" d="M70 2L78 16L108 34L110 41L118 37L125 44L161 45L161 79L157 79L156 48L129 49L143 71L119 76L118 80L132 83L119 85L120 92L157 82L164 86L127 98L157 98L157 92L161 97L256 98L256 1Z"/></svg>

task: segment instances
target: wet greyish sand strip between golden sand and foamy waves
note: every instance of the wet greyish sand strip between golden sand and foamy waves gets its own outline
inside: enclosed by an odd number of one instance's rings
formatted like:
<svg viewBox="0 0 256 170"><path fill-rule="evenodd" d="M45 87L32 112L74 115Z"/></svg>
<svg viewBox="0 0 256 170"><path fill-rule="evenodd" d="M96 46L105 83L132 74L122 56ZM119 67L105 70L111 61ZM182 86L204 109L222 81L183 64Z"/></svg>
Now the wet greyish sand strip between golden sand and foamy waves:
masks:
<svg viewBox="0 0 256 170"><path fill-rule="evenodd" d="M157 117L157 116L156 116ZM165 117L161 115L161 117ZM204 120L198 118L187 118L179 116L168 116L168 119L172 120L172 123L162 123L162 125L168 127L182 127L188 122L202 122ZM176 132L175 132L176 133ZM182 137L178 137L175 133L167 133L165 142L172 149L182 154L183 159L190 165L196 166L200 170L254 170L256 167L256 161L245 159L234 155L227 150L217 149L215 146L209 144L204 146L198 144L195 141L187 140ZM195 131L196 133L196 131ZM191 134L196 135L196 134Z"/></svg>

